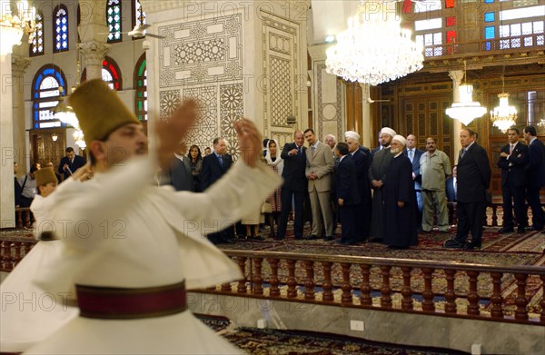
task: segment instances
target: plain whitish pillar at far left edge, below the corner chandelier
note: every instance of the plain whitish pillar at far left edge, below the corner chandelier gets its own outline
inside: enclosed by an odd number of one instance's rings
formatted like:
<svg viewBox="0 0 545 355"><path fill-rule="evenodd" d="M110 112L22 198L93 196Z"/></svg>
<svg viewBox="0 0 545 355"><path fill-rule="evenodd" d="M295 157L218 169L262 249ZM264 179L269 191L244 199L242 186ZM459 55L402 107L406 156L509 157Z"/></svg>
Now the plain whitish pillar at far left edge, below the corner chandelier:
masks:
<svg viewBox="0 0 545 355"><path fill-rule="evenodd" d="M1 28L0 28L1 31ZM0 56L0 228L15 227L12 55Z"/></svg>

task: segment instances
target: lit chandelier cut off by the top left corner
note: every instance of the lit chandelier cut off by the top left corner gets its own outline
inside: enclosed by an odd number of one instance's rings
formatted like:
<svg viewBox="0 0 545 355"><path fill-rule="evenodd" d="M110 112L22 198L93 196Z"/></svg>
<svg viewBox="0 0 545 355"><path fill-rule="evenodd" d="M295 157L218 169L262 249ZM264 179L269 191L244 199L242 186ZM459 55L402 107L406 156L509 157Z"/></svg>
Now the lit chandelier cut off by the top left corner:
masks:
<svg viewBox="0 0 545 355"><path fill-rule="evenodd" d="M9 8L9 2L5 4L2 2L2 9L4 12L5 7ZM21 0L17 3L17 14L12 12L6 14L0 13L0 56L4 57L6 54L13 52L13 46L21 44L21 38L23 35L29 35L28 43L32 43L35 36L35 18L36 10L33 5L30 7L26 0Z"/></svg>

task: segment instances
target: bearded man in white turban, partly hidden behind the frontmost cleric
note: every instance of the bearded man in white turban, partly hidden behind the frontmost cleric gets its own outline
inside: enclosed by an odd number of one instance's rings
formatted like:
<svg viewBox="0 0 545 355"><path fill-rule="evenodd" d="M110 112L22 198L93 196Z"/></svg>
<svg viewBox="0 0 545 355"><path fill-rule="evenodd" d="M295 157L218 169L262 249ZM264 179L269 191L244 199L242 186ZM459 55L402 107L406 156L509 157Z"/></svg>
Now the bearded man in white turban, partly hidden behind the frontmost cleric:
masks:
<svg viewBox="0 0 545 355"><path fill-rule="evenodd" d="M381 242L383 238L383 222L384 213L382 211L382 186L384 179L388 173L391 159L393 156L390 153L391 138L395 135L395 131L389 127L381 129L380 142L382 149L374 154L372 165L369 169L369 181L373 191L372 195L372 221L370 237L372 242ZM412 171L412 170L411 170Z"/></svg>

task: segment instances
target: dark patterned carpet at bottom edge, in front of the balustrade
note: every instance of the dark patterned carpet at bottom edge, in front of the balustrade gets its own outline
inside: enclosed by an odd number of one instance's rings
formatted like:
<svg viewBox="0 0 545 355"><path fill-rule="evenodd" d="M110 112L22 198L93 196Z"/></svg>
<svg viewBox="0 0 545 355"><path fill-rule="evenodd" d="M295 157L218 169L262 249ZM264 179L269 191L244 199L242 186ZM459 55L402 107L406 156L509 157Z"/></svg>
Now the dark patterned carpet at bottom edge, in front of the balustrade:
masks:
<svg viewBox="0 0 545 355"><path fill-rule="evenodd" d="M248 354L259 355L440 355L466 354L456 350L401 346L310 331L234 328L230 320L195 314L203 323Z"/></svg>

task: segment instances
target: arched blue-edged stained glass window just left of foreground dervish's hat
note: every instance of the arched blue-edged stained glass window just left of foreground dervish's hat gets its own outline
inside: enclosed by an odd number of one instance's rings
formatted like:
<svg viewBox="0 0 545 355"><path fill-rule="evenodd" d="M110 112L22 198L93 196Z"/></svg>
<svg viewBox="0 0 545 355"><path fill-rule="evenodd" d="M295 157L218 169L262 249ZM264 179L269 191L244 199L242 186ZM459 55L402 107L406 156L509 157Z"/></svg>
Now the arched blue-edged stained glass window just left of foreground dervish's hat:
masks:
<svg viewBox="0 0 545 355"><path fill-rule="evenodd" d="M65 126L54 118L51 109L59 103L59 86L66 94L66 79L59 67L46 64L35 74L32 85L33 128L51 128Z"/></svg>

